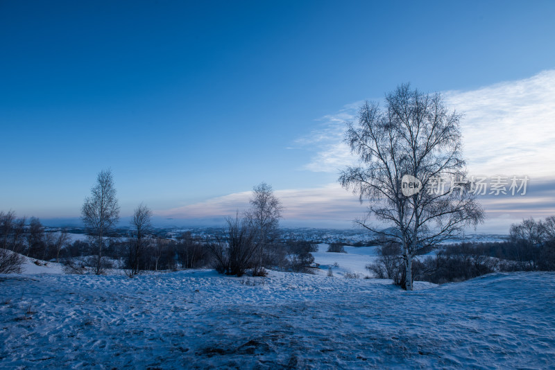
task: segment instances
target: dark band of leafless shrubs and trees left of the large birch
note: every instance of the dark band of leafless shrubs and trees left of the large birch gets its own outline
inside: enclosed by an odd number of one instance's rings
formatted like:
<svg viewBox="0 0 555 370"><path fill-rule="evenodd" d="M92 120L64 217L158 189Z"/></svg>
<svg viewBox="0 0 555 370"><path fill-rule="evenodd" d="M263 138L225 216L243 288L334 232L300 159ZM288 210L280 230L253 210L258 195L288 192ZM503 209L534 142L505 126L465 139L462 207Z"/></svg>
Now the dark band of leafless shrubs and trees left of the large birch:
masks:
<svg viewBox="0 0 555 370"><path fill-rule="evenodd" d="M143 210L144 211L144 210ZM225 274L265 275L265 269L311 272L316 244L280 238L278 229L268 231L265 243L248 218L228 220L223 234L195 237L190 231L169 239L155 236L147 222L142 235L137 228L125 236L110 233L103 238L100 273L121 268L133 276L145 271L216 268ZM140 240L139 240L140 239ZM49 232L37 218L17 218L14 211L0 212L0 273L21 272L23 256L60 262L67 273L96 273L98 240L71 240L66 230ZM13 253L15 252L15 253Z"/></svg>

